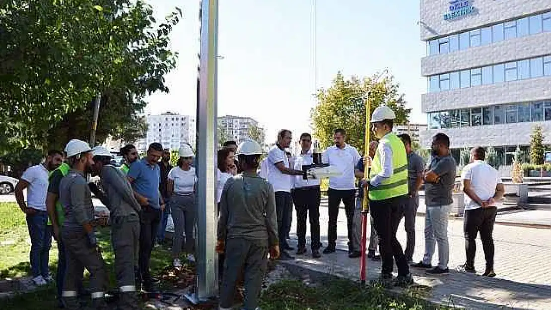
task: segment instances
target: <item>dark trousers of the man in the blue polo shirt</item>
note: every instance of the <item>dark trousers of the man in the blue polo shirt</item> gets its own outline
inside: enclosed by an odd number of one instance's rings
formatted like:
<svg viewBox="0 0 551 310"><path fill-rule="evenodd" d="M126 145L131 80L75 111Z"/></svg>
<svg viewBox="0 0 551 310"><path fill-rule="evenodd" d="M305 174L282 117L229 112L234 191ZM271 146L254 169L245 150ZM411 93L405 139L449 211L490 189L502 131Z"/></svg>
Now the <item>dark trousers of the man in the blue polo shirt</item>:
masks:
<svg viewBox="0 0 551 310"><path fill-rule="evenodd" d="M150 272L151 252L159 231L160 220L161 210L159 209L147 208L140 213L138 280L143 282L145 290L151 289L153 285Z"/></svg>

